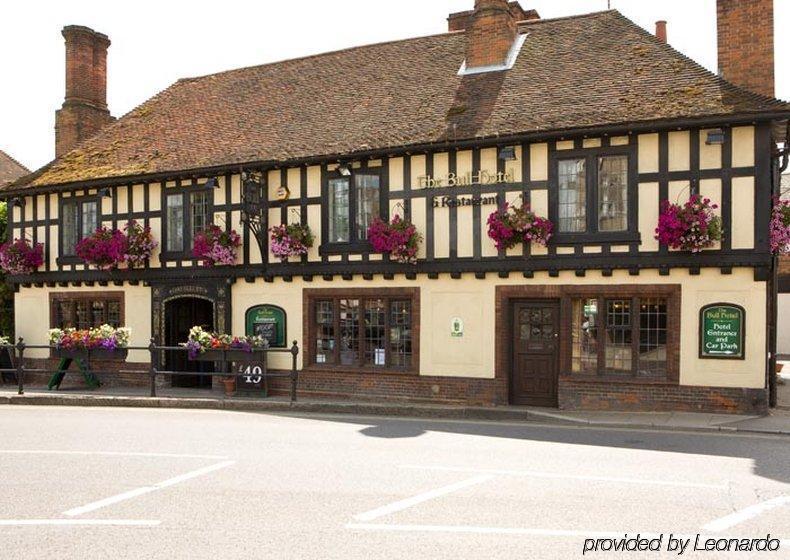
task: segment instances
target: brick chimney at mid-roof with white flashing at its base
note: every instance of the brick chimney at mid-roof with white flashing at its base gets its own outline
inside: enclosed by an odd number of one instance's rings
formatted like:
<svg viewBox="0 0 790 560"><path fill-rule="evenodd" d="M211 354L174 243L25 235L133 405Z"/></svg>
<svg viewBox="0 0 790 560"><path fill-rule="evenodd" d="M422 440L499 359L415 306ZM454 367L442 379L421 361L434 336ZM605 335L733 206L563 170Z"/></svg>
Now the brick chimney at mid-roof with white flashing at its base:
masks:
<svg viewBox="0 0 790 560"><path fill-rule="evenodd" d="M518 33L516 22L525 14L518 3L511 11L507 0L475 0L475 9L464 22L466 68L505 64ZM450 16L450 27L454 25ZM455 25L460 21L456 20Z"/></svg>

